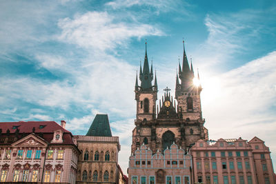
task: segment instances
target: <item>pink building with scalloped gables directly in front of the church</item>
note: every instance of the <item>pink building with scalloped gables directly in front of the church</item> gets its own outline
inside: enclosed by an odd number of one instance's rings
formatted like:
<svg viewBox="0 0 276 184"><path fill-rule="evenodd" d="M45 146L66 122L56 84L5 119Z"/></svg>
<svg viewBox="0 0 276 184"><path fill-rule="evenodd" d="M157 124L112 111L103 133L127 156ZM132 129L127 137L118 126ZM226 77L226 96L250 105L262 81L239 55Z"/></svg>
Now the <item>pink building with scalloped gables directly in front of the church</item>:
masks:
<svg viewBox="0 0 276 184"><path fill-rule="evenodd" d="M190 184L192 176L192 156L175 143L164 154L141 145L135 155L130 156L128 178L130 184L184 183Z"/></svg>

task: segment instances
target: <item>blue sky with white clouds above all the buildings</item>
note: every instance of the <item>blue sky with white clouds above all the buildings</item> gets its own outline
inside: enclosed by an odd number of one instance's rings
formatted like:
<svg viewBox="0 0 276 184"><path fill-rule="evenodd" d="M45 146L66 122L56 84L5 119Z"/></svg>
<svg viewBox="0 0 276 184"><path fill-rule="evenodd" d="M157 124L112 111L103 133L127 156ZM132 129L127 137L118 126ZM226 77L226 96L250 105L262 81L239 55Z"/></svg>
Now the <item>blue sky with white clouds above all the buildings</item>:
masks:
<svg viewBox="0 0 276 184"><path fill-rule="evenodd" d="M167 86L174 94L182 39L209 139L257 136L276 169L273 0L0 0L0 121L65 120L86 134L108 114L126 173L145 41L160 99Z"/></svg>

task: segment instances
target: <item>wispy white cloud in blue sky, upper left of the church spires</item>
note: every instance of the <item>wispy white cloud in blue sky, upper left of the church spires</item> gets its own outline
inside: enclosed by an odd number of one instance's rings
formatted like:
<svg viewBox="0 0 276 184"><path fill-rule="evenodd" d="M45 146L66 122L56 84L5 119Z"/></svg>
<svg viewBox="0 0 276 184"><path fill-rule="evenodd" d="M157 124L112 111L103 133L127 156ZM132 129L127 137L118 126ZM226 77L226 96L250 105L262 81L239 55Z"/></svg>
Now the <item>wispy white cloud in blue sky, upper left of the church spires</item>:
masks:
<svg viewBox="0 0 276 184"><path fill-rule="evenodd" d="M58 25L62 29L61 41L101 51L126 44L133 37L164 34L149 24L118 22L108 12L87 12L76 15L74 19L61 19Z"/></svg>

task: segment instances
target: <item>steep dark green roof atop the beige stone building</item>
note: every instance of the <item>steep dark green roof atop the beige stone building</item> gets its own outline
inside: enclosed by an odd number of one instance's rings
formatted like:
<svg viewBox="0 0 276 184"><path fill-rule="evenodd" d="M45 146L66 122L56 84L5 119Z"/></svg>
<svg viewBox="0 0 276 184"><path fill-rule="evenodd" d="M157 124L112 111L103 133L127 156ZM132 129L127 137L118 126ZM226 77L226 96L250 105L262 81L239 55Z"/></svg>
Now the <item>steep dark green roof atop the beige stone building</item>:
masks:
<svg viewBox="0 0 276 184"><path fill-rule="evenodd" d="M97 114L86 136L112 136L108 114Z"/></svg>

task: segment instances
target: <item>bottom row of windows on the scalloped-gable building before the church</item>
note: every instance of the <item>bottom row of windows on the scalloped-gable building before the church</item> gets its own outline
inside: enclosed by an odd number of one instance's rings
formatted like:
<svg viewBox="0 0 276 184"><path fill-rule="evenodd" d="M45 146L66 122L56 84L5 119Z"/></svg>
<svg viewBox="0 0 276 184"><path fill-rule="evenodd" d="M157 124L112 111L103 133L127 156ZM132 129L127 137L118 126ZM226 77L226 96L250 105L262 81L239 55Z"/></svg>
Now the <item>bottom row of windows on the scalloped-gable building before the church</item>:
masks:
<svg viewBox="0 0 276 184"><path fill-rule="evenodd" d="M183 176L183 183L190 184L190 176ZM132 176L131 184L146 184L147 176L141 176L140 182L138 181L138 176ZM149 184L155 184L155 176L148 177ZM166 176L166 184L172 184L172 176ZM175 184L181 184L181 176L175 176Z"/></svg>

